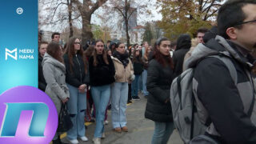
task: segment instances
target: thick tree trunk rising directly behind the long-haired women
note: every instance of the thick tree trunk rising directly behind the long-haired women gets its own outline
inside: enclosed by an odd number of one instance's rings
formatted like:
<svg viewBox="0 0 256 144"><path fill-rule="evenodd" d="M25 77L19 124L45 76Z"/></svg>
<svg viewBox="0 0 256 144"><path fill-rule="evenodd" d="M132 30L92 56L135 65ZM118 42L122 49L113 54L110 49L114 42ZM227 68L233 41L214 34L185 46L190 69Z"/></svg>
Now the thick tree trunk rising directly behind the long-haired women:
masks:
<svg viewBox="0 0 256 144"><path fill-rule="evenodd" d="M94 38L94 34L90 30L90 18L90 14L82 14L82 46L86 45L86 41Z"/></svg>

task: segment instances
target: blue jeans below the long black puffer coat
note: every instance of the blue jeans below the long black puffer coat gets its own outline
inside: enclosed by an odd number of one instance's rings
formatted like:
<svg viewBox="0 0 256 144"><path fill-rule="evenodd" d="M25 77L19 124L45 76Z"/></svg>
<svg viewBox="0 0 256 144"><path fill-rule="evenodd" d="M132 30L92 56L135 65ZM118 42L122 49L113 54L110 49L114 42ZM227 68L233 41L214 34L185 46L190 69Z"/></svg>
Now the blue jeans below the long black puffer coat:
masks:
<svg viewBox="0 0 256 144"><path fill-rule="evenodd" d="M174 122L154 122L151 144L166 144L174 131Z"/></svg>

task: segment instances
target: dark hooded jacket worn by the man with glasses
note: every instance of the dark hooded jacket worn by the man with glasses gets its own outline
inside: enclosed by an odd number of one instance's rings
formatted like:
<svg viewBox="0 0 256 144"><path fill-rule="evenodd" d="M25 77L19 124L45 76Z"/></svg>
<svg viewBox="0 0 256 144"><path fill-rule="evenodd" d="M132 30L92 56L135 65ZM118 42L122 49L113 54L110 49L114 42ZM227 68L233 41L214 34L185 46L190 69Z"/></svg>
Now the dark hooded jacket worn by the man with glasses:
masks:
<svg viewBox="0 0 256 144"><path fill-rule="evenodd" d="M254 63L254 59L249 52L245 57L241 53L241 50L244 49L241 46L230 41L226 42L224 38L220 39L211 39L206 43L206 47L218 52L229 51L230 60L234 63L238 75L238 84L234 84L230 71L221 60L204 58L199 63L194 62L198 63L194 72L194 81L198 83L195 89L196 94L202 105L205 106L210 121L214 123L215 129L221 135L221 137L212 136L213 138L223 144L256 143L255 104L252 118L247 113L249 110L245 110L246 106L255 102L255 99L252 98L255 92L250 88L250 86L254 87L249 79L251 75L246 74L246 71L251 70L250 63ZM223 42L225 45L219 42ZM196 47L195 50L197 48L199 47Z"/></svg>

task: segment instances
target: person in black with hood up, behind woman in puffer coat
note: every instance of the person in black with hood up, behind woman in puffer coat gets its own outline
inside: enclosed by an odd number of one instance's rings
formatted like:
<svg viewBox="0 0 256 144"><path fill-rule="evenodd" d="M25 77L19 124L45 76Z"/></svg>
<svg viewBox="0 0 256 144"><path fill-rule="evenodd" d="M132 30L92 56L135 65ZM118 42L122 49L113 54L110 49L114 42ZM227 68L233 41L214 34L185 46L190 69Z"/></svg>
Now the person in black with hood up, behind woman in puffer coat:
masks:
<svg viewBox="0 0 256 144"><path fill-rule="evenodd" d="M189 34L181 34L177 40L176 50L173 54L174 60L174 78L182 74L182 66L186 53L190 50L191 38Z"/></svg>

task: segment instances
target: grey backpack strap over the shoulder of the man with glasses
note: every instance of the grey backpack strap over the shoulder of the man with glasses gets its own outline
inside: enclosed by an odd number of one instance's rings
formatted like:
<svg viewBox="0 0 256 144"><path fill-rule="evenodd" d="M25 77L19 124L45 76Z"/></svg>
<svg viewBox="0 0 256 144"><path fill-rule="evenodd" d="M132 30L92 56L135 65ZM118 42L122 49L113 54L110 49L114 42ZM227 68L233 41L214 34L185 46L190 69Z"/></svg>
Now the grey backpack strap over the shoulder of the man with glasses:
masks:
<svg viewBox="0 0 256 144"><path fill-rule="evenodd" d="M225 63L226 67L228 68L228 70L230 71L230 75L231 78L234 81L235 86L238 85L238 74L237 74L237 70L234 67L233 62L231 62L230 58L228 58L227 56L223 55L211 55L209 57L214 57L214 58L218 58L219 60L221 60L223 63Z"/></svg>

